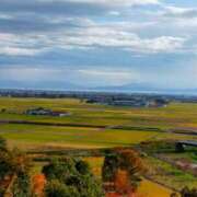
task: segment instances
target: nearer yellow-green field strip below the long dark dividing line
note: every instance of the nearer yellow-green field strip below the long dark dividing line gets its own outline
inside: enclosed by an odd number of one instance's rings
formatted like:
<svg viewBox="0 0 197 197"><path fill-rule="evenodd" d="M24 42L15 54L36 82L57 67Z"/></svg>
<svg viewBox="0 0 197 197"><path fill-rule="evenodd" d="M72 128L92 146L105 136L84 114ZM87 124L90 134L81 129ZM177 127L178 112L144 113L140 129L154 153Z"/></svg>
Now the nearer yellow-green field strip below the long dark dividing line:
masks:
<svg viewBox="0 0 197 197"><path fill-rule="evenodd" d="M139 143L152 138L170 138L170 134L139 130L96 129L85 127L55 127L38 125L1 125L0 135L15 142L37 146L63 147L120 147ZM176 136L176 135L172 135Z"/></svg>

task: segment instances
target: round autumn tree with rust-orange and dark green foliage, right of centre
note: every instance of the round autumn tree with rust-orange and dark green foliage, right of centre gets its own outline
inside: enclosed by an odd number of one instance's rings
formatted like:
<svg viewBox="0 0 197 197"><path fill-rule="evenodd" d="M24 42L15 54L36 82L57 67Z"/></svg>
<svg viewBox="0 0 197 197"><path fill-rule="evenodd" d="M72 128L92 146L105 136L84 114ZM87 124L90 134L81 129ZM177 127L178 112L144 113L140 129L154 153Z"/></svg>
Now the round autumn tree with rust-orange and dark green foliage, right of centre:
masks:
<svg viewBox="0 0 197 197"><path fill-rule="evenodd" d="M136 151L116 149L105 157L102 169L103 181L114 182L116 188L127 187L135 190L141 181L140 173L143 169L142 161Z"/></svg>

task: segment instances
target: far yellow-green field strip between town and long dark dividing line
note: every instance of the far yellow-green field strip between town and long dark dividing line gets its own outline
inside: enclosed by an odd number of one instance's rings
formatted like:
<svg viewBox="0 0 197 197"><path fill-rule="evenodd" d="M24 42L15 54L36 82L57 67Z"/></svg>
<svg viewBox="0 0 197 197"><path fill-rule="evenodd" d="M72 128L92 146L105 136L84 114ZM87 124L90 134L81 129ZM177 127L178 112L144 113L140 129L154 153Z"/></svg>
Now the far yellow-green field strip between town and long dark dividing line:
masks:
<svg viewBox="0 0 197 197"><path fill-rule="evenodd" d="M68 117L26 116L27 108L46 107L71 113ZM197 105L173 103L162 108L130 108L81 103L79 100L0 99L0 119L25 119L36 121L135 125L157 128L196 127Z"/></svg>

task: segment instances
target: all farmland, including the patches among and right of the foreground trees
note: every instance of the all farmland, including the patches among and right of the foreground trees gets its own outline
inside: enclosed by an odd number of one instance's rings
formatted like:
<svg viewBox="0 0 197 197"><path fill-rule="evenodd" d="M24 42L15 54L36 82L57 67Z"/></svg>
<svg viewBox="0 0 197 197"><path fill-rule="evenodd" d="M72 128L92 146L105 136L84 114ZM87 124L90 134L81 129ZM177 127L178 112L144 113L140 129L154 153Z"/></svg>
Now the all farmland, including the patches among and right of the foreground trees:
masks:
<svg viewBox="0 0 197 197"><path fill-rule="evenodd" d="M35 107L69 113L69 116L25 114L27 109ZM0 99L0 136L8 140L10 148L19 147L25 151L135 148L144 141L197 140L196 117L197 104L190 103L131 108L86 104L74 99ZM196 162L196 153L190 151L181 154L173 151L171 154L162 152L159 157L170 158L171 161L179 157ZM103 159L89 157L85 160L100 176ZM171 163L155 158L152 152L148 152L144 162L152 174L148 174L151 182L142 182L141 192L144 192L144 187L150 187L150 190L152 187L161 187L165 197L170 188L178 189L185 185L192 187L197 183L196 175L172 166ZM36 163L35 171L40 169L39 164ZM161 169L163 174L159 173Z"/></svg>

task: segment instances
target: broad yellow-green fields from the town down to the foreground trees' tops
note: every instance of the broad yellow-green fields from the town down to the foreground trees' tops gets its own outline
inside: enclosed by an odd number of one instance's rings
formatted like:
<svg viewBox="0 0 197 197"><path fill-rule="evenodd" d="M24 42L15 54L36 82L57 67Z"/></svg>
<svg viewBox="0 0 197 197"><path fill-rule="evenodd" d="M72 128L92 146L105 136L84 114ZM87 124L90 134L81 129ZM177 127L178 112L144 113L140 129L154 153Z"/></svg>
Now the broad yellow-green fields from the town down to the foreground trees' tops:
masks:
<svg viewBox="0 0 197 197"><path fill-rule="evenodd" d="M45 107L69 112L67 117L31 116L28 108ZM10 144L20 147L118 147L150 139L192 139L195 137L167 132L167 129L197 128L197 105L173 103L163 108L130 108L86 104L79 100L62 99L0 99L0 120L50 123L57 126L34 124L1 124L0 135ZM58 124L69 124L61 126ZM123 129L114 129L120 126ZM103 128L102 128L103 127ZM158 129L151 131L149 128Z"/></svg>

